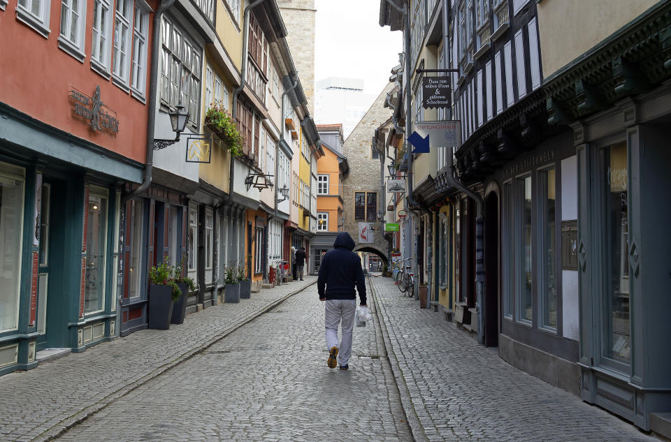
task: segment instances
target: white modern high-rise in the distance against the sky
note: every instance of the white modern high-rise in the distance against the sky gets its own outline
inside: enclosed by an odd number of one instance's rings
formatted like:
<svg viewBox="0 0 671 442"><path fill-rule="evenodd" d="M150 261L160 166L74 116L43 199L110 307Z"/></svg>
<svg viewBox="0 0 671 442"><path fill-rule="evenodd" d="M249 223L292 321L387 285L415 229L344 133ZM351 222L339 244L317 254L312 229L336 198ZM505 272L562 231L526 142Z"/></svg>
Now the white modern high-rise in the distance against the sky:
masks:
<svg viewBox="0 0 671 442"><path fill-rule="evenodd" d="M359 78L324 78L317 82L316 89L315 122L342 123L345 139L376 98L374 94L363 93L363 80Z"/></svg>

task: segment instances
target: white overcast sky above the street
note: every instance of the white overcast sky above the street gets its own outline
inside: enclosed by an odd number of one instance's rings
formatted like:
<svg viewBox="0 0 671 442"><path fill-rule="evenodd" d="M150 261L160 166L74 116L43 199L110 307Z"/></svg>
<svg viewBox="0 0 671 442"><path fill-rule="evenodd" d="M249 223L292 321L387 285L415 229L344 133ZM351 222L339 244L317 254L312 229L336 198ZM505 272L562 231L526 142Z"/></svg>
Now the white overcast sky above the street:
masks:
<svg viewBox="0 0 671 442"><path fill-rule="evenodd" d="M380 0L315 0L315 84L326 77L363 78L379 95L403 52L401 31L380 27Z"/></svg>

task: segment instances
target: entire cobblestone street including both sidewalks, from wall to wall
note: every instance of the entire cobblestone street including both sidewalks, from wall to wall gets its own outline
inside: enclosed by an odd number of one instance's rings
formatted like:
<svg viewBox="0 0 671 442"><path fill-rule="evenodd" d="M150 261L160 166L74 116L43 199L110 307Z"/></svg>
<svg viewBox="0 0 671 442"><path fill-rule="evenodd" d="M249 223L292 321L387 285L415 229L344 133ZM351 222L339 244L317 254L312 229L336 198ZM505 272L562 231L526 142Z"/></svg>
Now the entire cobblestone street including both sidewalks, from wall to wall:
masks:
<svg viewBox="0 0 671 442"><path fill-rule="evenodd" d="M314 281L0 377L0 440L657 440L503 362L390 279L368 279L375 320L355 327L349 371L329 369Z"/></svg>

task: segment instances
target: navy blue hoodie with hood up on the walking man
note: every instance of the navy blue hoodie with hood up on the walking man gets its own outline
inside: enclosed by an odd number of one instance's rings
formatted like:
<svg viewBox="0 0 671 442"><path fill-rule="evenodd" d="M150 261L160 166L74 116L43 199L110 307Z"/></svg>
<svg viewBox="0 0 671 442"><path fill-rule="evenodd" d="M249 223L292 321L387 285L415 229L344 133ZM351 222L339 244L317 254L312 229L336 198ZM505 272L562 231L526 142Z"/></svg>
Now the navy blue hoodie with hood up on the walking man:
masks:
<svg viewBox="0 0 671 442"><path fill-rule="evenodd" d="M347 232L338 233L333 242L335 249L322 258L317 278L319 299L355 300L356 290L359 291L361 304L366 304L366 279L363 277L361 258L354 253L354 240ZM324 293L326 286L326 293Z"/></svg>

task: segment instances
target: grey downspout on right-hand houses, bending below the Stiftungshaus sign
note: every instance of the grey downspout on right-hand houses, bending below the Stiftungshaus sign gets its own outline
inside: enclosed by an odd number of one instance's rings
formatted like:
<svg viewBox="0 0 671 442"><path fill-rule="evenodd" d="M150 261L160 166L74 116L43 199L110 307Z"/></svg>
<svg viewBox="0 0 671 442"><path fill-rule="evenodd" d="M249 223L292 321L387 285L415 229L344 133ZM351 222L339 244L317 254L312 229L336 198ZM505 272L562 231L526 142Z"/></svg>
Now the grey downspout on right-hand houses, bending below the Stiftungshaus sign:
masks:
<svg viewBox="0 0 671 442"><path fill-rule="evenodd" d="M449 31L447 22L449 21L449 2L442 0L442 35L445 41L442 44L443 59L447 62L452 54L452 45L450 44ZM452 64L452 63L450 63ZM447 109L448 119L452 119L452 108ZM471 189L468 189L466 184L463 184L454 176L454 168L452 168L452 157L447 162L449 170L445 173L447 182L455 189L459 189L466 193L468 198L475 201L475 309L477 311L477 341L479 344L484 344L484 295L482 288L485 283L484 274L484 220L482 218L482 198ZM455 293L455 300L457 299Z"/></svg>

